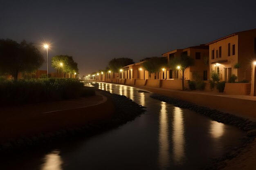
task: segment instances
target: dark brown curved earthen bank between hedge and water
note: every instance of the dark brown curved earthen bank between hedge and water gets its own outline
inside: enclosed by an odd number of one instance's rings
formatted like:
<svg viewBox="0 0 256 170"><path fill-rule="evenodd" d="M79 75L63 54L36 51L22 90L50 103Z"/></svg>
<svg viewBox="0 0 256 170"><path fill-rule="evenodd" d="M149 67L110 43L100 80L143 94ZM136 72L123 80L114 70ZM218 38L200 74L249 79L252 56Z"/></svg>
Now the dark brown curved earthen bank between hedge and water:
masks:
<svg viewBox="0 0 256 170"><path fill-rule="evenodd" d="M92 135L116 128L144 112L143 107L125 96L95 90L97 95L93 97L4 108L2 113L9 113L1 114L0 150Z"/></svg>

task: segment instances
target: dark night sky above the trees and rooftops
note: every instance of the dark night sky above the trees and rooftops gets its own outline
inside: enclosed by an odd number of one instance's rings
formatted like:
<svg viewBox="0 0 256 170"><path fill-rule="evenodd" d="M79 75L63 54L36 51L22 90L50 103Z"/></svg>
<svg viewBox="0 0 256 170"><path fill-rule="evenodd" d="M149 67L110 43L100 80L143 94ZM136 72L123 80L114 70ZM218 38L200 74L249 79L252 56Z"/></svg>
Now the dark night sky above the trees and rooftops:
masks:
<svg viewBox="0 0 256 170"><path fill-rule="evenodd" d="M49 58L73 56L81 76L254 28L256 0L0 0L0 38L34 42L45 57L49 42Z"/></svg>

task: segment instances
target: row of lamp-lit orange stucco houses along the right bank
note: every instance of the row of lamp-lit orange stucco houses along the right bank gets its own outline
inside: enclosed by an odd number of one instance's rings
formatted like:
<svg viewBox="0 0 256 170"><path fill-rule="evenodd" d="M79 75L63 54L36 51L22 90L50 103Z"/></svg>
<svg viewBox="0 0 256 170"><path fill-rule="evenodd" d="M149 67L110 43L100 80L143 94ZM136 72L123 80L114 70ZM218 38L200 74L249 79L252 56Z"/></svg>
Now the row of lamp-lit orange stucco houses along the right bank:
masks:
<svg viewBox="0 0 256 170"><path fill-rule="evenodd" d="M227 82L231 75L238 77L237 82L248 82L246 88L250 87L247 94L256 95L254 92L255 83L255 66L256 66L256 29L232 33L225 37L211 41L199 46L191 46L185 49L175 49L162 54L169 62L173 57L188 55L195 60L195 64L185 70L185 80L201 79L209 81L212 71L219 73L220 81ZM119 73L102 73L94 78L106 82L135 84L144 80L152 82L152 79L162 80L179 80L182 74L179 69L162 68L158 73L148 73L141 62L125 66L120 69ZM122 80L124 79L124 80ZM174 81L173 81L174 82ZM172 87L172 81L168 81ZM143 84L143 83L142 83ZM235 86L235 85L234 85ZM238 85L236 85L238 86ZM177 86L175 86L177 88ZM244 93L243 93L244 94Z"/></svg>

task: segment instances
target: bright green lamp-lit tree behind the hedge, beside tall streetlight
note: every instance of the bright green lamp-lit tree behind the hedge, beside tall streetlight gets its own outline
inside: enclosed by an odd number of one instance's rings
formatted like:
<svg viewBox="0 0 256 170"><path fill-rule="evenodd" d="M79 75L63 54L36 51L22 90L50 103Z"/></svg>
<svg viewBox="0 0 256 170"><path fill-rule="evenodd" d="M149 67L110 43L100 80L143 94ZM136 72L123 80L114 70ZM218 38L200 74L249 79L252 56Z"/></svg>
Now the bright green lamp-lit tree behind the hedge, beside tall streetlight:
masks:
<svg viewBox="0 0 256 170"><path fill-rule="evenodd" d="M77 63L69 55L56 55L52 57L52 67L63 73L78 74Z"/></svg>

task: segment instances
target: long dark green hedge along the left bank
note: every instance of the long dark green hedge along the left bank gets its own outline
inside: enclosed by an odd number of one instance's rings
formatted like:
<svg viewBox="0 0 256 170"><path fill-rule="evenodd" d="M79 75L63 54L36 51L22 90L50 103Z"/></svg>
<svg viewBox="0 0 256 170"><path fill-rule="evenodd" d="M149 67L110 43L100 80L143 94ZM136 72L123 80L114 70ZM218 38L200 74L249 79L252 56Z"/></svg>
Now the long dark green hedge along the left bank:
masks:
<svg viewBox="0 0 256 170"><path fill-rule="evenodd" d="M94 91L94 89L92 90ZM88 95L94 94L90 92ZM0 82L1 104L24 104L70 99L85 95L83 83L78 82L76 79L21 79L18 81L6 80Z"/></svg>

